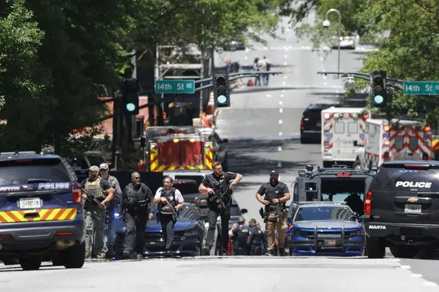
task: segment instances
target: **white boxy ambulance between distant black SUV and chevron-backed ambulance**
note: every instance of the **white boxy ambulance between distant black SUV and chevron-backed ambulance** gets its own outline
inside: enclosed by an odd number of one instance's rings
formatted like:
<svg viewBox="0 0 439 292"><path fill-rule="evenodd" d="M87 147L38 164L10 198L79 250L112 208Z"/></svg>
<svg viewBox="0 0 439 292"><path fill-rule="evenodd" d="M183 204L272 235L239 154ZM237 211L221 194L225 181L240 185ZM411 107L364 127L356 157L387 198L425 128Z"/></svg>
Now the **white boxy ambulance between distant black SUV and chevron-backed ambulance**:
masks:
<svg viewBox="0 0 439 292"><path fill-rule="evenodd" d="M323 167L360 167L361 160L364 161L360 158L364 157L365 121L368 118L364 108L330 107L322 110Z"/></svg>

